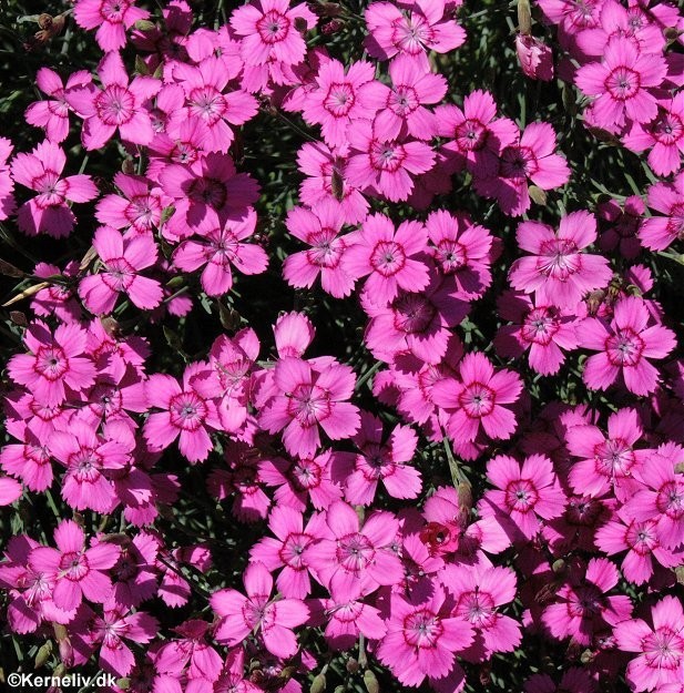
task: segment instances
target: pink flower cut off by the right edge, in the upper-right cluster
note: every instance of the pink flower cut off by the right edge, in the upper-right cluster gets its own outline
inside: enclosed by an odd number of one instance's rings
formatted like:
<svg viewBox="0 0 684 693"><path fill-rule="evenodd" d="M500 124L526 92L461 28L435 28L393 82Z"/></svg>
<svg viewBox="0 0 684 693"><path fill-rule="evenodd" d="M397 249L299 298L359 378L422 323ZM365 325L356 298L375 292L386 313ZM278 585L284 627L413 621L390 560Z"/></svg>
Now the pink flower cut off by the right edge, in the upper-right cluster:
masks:
<svg viewBox="0 0 684 693"><path fill-rule="evenodd" d="M684 153L684 93L660 102L655 120L635 122L622 143L637 153L653 147L649 152L649 165L657 175L678 172Z"/></svg>

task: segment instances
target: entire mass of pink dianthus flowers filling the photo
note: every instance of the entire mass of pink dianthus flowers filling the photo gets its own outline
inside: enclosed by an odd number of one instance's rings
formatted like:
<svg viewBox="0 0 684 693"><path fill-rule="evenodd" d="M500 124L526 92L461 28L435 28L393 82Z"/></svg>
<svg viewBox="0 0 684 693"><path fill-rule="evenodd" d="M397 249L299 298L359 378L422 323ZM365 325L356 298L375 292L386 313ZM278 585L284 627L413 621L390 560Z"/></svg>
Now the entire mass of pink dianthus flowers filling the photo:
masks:
<svg viewBox="0 0 684 693"><path fill-rule="evenodd" d="M25 118L43 141L0 139L0 221L90 247L32 268L7 364L0 505L41 497L69 516L3 548L9 631L53 633L65 667L96 662L136 693L299 693L356 648L367 673L459 693L539 635L573 666L530 675L528 693L594 693L616 675L681 693L684 361L647 257L684 238L683 61L666 31L684 20L647 0L537 4L585 124L650 150L662 180L645 200L532 206L571 167L551 123L520 126L484 90L447 96L435 55L466 42L459 1L369 2L367 58L345 64L308 44L325 2L253 0L212 30L184 0L159 17L75 0L101 61L41 69L45 99ZM552 78L529 32L518 51L524 74ZM264 110L310 134L282 267L234 156ZM119 143L131 165L99 186L68 160L79 137L86 152ZM513 233L446 208L456 181ZM223 315L243 275L274 266L358 310L369 370L316 353L316 326L292 310L152 371L147 323L171 343L193 296ZM477 348L486 295L498 322ZM532 388L569 373L573 391L533 410ZM242 585L202 538L164 533L187 483L169 470L178 459L258 533ZM173 628L155 599L177 610Z"/></svg>

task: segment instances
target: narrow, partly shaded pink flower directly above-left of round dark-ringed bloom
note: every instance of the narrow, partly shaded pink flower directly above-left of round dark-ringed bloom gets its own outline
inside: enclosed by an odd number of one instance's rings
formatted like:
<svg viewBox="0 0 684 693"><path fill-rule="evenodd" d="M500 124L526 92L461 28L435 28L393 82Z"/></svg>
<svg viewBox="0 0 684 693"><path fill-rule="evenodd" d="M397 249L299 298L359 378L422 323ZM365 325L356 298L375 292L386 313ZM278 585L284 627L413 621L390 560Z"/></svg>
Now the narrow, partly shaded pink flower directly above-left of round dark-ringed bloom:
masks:
<svg viewBox="0 0 684 693"><path fill-rule="evenodd" d="M305 142L297 153L297 166L306 177L299 186L299 198L314 208L321 201L336 207L338 218L358 224L368 212L368 201L347 181L346 161L323 142Z"/></svg>

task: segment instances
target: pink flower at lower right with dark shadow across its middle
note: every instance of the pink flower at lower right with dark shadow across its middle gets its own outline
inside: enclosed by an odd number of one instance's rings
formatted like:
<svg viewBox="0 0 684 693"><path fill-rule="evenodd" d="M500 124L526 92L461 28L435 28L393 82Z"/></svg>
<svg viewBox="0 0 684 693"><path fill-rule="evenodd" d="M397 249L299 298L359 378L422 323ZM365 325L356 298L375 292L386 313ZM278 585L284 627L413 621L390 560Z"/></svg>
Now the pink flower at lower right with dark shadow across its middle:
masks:
<svg viewBox="0 0 684 693"><path fill-rule="evenodd" d="M611 561L591 559L581 574L572 575L555 592L542 622L554 638L572 638L580 645L591 645L606 624L615 625L632 614L632 601L626 594L605 597L619 580L620 572Z"/></svg>

